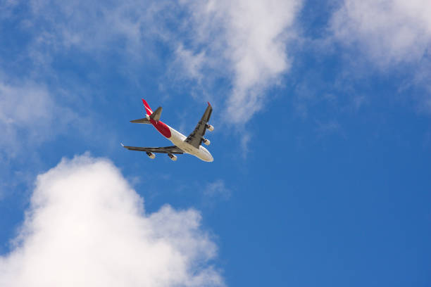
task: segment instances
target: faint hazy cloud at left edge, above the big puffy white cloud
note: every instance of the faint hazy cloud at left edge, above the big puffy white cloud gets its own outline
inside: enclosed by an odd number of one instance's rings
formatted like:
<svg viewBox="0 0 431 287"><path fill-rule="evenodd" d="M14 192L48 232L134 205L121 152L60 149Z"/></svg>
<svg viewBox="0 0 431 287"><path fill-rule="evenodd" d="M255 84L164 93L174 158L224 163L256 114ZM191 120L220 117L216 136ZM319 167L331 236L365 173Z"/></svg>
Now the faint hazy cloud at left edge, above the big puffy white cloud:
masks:
<svg viewBox="0 0 431 287"><path fill-rule="evenodd" d="M44 85L0 82L0 147L6 158L62 132L73 120L77 115L59 106Z"/></svg>

